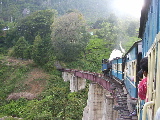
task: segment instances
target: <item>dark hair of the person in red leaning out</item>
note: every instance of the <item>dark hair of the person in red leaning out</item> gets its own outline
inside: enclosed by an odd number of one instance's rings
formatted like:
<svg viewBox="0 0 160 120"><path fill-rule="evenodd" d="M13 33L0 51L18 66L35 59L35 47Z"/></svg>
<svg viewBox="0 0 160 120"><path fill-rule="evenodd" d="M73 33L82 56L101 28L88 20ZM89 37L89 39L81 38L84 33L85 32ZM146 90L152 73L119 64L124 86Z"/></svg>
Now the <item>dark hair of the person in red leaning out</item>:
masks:
<svg viewBox="0 0 160 120"><path fill-rule="evenodd" d="M142 69L142 71L145 71L148 73L148 57L141 59L140 68Z"/></svg>

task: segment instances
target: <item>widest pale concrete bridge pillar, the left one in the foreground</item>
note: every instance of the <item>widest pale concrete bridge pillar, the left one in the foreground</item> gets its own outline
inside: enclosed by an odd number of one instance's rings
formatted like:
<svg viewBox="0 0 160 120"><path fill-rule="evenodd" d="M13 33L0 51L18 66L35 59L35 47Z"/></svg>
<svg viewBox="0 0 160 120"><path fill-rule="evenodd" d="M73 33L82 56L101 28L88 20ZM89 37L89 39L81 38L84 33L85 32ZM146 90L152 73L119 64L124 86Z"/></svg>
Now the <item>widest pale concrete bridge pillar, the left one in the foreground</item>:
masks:
<svg viewBox="0 0 160 120"><path fill-rule="evenodd" d="M102 120L103 101L103 88L97 83L91 83L82 120Z"/></svg>

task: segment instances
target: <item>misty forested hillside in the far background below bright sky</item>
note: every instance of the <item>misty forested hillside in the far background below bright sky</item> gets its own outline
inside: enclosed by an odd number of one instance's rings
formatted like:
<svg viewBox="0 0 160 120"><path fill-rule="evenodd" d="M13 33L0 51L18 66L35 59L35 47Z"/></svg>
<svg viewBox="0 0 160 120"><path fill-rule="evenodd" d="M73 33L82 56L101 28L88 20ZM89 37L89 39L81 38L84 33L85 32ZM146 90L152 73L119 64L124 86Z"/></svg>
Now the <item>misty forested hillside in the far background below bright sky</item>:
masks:
<svg viewBox="0 0 160 120"><path fill-rule="evenodd" d="M55 9L58 15L78 10L88 21L93 22L113 13L120 15L114 9L114 1L116 0L6 0L0 5L0 19L16 22L37 10Z"/></svg>

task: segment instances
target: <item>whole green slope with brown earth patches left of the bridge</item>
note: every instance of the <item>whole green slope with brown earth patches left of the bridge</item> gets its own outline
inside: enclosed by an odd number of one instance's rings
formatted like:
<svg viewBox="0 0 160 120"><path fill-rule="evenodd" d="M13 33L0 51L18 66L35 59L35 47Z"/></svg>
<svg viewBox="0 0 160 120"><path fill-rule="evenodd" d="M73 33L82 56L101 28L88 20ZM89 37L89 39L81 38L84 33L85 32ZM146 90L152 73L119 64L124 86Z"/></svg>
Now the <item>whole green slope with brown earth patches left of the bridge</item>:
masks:
<svg viewBox="0 0 160 120"><path fill-rule="evenodd" d="M44 71L30 60L0 57L0 118L77 119L87 101L87 91L70 93L57 70Z"/></svg>

